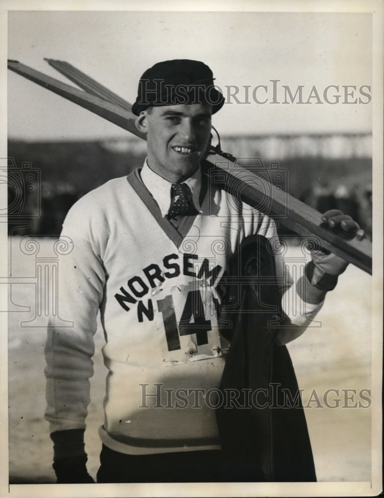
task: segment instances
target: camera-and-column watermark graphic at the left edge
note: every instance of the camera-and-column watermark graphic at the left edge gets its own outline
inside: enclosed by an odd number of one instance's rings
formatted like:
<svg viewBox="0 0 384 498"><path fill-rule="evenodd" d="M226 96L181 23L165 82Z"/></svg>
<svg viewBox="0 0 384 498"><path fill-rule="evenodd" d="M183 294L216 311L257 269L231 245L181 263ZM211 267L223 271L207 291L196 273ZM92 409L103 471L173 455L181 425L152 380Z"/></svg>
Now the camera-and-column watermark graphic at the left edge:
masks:
<svg viewBox="0 0 384 498"><path fill-rule="evenodd" d="M0 275L0 284L9 286L9 300L6 310L0 312L33 312L29 320L20 320L20 327L47 326L48 317L55 320L55 326L73 327L73 322L59 316L59 260L73 250L69 237L47 239L43 235L21 237L12 246L12 236L20 228L31 228L34 219L42 214L41 171L32 167L29 161L17 165L13 157L0 158L0 185L6 186L7 203L0 207L0 223L8 222L8 274ZM48 244L48 240L50 243ZM42 243L44 241L44 243ZM17 247L18 246L18 247ZM13 251L18 250L34 259L33 275L15 275L12 269ZM33 285L28 303L15 303L12 285ZM27 305L26 305L27 304Z"/></svg>

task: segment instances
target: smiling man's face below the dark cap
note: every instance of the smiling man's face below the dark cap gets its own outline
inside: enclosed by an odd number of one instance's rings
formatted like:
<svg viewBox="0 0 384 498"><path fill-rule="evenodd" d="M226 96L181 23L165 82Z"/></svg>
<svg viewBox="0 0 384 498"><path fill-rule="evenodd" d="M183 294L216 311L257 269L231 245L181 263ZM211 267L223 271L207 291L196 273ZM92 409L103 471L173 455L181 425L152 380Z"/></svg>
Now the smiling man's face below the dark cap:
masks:
<svg viewBox="0 0 384 498"><path fill-rule="evenodd" d="M137 121L147 135L149 167L171 183L193 175L207 148L211 116L209 104L179 104L143 111Z"/></svg>

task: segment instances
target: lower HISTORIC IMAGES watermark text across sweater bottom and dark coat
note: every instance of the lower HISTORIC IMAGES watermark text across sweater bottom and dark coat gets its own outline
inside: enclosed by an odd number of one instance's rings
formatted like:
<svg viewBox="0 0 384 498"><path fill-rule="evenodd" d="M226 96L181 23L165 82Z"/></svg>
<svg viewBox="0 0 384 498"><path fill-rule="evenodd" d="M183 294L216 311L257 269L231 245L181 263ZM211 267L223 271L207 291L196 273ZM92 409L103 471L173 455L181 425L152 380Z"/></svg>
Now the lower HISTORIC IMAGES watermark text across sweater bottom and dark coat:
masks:
<svg viewBox="0 0 384 498"><path fill-rule="evenodd" d="M296 392L271 382L267 388L259 389L204 389L166 388L164 383L140 383L141 404L139 408L370 408L371 389L331 387L324 392L304 389ZM305 396L304 396L305 394ZM305 399L304 401L302 401Z"/></svg>

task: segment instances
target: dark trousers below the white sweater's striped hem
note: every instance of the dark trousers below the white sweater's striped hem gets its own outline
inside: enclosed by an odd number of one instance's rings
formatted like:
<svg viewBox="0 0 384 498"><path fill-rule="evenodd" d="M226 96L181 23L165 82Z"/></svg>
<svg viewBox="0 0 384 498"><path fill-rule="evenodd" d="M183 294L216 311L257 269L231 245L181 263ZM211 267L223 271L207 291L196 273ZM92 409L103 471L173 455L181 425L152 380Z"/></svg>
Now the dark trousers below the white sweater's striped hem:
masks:
<svg viewBox="0 0 384 498"><path fill-rule="evenodd" d="M259 481L247 472L224 462L220 450L183 451L153 455L126 455L103 445L98 483L209 483ZM249 470L251 470L249 467Z"/></svg>

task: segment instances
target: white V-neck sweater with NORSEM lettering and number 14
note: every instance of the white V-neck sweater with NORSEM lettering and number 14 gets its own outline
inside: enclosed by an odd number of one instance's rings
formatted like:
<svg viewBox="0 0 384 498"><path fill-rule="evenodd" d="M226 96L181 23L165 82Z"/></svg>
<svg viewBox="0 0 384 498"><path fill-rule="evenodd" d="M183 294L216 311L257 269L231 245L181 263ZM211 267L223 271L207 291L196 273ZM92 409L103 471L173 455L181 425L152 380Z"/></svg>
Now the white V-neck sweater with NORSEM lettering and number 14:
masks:
<svg viewBox="0 0 384 498"><path fill-rule="evenodd" d="M228 344L218 331L217 285L245 237L273 238L276 229L219 189L208 190L201 211L185 219L181 237L137 172L71 208L62 235L73 250L59 262L59 316L73 327L51 321L46 346L52 432L85 427L100 310L109 370L103 442L130 454L219 447L213 405ZM278 256L276 263L283 294L292 281ZM302 333L322 305L297 299L302 313L285 310L285 338Z"/></svg>

